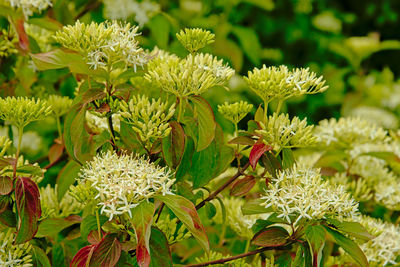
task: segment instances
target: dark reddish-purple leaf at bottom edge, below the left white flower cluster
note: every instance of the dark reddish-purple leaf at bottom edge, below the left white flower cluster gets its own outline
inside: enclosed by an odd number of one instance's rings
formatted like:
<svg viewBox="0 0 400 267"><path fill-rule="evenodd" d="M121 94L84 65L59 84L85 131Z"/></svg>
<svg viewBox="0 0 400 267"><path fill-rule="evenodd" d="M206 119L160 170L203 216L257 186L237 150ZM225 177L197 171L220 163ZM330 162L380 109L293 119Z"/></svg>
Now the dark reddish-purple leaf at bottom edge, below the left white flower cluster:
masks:
<svg viewBox="0 0 400 267"><path fill-rule="evenodd" d="M121 256L121 244L115 235L106 235L94 249L89 266L114 267Z"/></svg>

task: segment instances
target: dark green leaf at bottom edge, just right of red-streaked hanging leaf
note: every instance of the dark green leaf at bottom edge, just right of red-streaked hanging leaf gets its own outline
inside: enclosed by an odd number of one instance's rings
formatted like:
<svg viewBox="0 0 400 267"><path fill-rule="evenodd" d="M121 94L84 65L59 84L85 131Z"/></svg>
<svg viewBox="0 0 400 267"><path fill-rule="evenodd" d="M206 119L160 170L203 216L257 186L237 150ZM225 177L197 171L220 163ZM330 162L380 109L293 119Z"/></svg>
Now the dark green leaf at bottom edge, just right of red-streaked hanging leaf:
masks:
<svg viewBox="0 0 400 267"><path fill-rule="evenodd" d="M172 267L168 240L164 233L156 227L151 227L150 255L150 267Z"/></svg>

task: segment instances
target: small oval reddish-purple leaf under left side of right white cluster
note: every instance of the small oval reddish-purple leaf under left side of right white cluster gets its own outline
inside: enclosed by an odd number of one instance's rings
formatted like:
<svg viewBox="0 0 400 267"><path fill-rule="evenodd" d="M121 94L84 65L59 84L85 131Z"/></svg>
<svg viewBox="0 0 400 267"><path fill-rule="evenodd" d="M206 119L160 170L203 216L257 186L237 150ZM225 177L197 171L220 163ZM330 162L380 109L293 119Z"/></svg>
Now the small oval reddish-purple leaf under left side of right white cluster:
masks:
<svg viewBox="0 0 400 267"><path fill-rule="evenodd" d="M272 226L255 234L251 243L261 247L278 247L284 245L288 237L289 234L285 229Z"/></svg>

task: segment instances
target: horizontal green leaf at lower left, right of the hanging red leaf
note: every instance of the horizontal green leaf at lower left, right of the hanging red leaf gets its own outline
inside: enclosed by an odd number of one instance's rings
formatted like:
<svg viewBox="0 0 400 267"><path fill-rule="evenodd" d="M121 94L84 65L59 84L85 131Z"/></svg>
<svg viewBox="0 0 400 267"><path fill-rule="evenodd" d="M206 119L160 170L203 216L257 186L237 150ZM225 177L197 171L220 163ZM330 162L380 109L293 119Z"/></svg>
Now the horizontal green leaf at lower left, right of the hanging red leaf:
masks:
<svg viewBox="0 0 400 267"><path fill-rule="evenodd" d="M71 215L67 218L48 218L41 221L36 237L52 237L56 238L57 234L63 229L81 222L81 217Z"/></svg>

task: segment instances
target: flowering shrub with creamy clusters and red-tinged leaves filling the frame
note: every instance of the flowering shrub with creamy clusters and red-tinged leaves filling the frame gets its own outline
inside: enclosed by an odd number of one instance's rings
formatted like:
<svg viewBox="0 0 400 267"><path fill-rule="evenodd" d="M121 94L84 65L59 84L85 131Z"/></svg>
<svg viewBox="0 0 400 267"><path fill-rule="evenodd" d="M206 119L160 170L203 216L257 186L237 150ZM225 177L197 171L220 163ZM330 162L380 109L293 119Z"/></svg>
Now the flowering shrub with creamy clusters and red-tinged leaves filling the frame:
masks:
<svg viewBox="0 0 400 267"><path fill-rule="evenodd" d="M363 70L397 41L332 42L355 93L314 123L291 107L329 67L261 65L255 32L155 1L66 2L0 0L1 266L400 266L399 84Z"/></svg>

